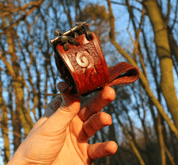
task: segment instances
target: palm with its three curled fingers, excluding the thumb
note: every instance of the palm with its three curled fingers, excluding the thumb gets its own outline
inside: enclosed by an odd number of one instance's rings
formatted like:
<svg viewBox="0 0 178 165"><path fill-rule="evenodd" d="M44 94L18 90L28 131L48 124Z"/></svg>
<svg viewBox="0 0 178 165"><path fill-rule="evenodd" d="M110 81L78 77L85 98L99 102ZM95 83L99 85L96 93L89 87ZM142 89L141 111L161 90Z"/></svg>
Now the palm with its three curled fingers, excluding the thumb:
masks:
<svg viewBox="0 0 178 165"><path fill-rule="evenodd" d="M107 91L111 89L105 90ZM106 93L106 91L104 91L103 94ZM105 144L97 143L93 145L88 144L89 138L98 130L104 126L112 124L110 115L100 111L114 99L113 96L115 95L111 94L109 99L103 99L102 97L106 98L107 96L98 95L90 100L88 104L81 107L81 111L74 117L66 130L64 146L53 165L89 165L91 164L92 159L111 155L116 152L117 145L114 142L107 142ZM100 103L98 103L98 101L100 101ZM102 147L104 148L103 150ZM100 149L98 150L98 148Z"/></svg>

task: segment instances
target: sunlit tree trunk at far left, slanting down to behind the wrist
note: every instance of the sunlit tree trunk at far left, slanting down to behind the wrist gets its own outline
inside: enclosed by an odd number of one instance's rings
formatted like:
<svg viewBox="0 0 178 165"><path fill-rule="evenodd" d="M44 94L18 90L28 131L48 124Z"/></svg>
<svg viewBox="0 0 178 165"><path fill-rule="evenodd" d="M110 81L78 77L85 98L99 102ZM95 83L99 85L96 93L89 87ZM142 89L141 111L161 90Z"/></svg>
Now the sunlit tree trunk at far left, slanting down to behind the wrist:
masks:
<svg viewBox="0 0 178 165"><path fill-rule="evenodd" d="M9 22L12 22L12 18L9 16L8 17ZM4 27L7 26L6 20L3 17L3 25ZM15 100L16 100L16 110L19 112L20 120L22 122L24 131L25 131L25 136L28 135L30 132L32 126L33 126L33 121L30 117L29 112L26 111L25 105L24 105L24 79L19 73L19 64L18 64L18 57L16 55L15 51L15 42L14 42L14 37L15 34L13 33L13 29L9 29L6 33L7 37L7 43L8 43L8 50L9 54L11 55L11 61L12 64L8 63L3 57L3 61L10 72L12 78L13 78L13 86L14 86L14 91L15 91Z"/></svg>

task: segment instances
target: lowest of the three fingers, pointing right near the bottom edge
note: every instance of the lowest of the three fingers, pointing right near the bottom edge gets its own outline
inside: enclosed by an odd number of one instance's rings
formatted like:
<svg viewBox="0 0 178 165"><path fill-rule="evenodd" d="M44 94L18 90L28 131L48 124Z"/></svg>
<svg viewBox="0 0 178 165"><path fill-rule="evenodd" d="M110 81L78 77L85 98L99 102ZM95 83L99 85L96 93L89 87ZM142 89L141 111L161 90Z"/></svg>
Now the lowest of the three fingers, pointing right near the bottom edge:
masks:
<svg viewBox="0 0 178 165"><path fill-rule="evenodd" d="M110 156L116 153L117 148L118 146L114 141L92 144L88 146L88 156L91 159Z"/></svg>

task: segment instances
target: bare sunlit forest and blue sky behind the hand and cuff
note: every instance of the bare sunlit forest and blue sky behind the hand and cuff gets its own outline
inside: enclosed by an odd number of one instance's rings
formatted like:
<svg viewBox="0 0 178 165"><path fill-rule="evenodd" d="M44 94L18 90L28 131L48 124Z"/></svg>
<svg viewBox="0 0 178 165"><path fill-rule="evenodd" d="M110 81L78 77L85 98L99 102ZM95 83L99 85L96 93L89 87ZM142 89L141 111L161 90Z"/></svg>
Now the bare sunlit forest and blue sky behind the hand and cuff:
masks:
<svg viewBox="0 0 178 165"><path fill-rule="evenodd" d="M58 93L49 40L76 21L90 24L108 67L140 70L135 83L114 87L103 109L113 124L89 140L114 140L117 153L93 165L178 164L178 0L1 0L0 164L44 113L46 94Z"/></svg>

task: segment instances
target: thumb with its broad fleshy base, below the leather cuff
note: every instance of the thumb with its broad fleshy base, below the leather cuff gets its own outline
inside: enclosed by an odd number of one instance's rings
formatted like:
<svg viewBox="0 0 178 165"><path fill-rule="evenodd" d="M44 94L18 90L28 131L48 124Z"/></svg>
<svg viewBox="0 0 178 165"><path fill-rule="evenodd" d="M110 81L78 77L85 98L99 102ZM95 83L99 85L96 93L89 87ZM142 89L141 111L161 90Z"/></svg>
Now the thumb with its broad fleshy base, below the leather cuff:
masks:
<svg viewBox="0 0 178 165"><path fill-rule="evenodd" d="M60 83L58 88L61 91L66 88L66 84ZM61 151L66 140L67 128L80 109L78 97L66 94L61 96L62 102L59 98L51 102L51 108L57 110L23 142L20 152L23 155L21 157L27 162L53 164Z"/></svg>

